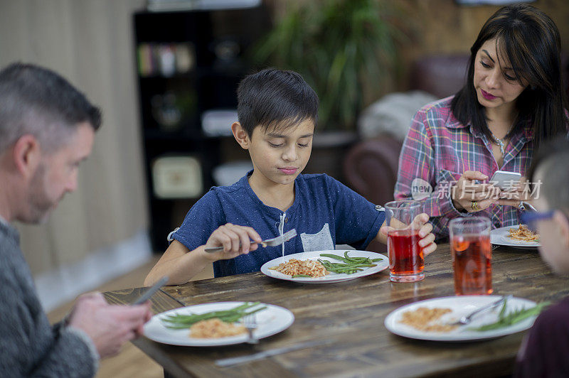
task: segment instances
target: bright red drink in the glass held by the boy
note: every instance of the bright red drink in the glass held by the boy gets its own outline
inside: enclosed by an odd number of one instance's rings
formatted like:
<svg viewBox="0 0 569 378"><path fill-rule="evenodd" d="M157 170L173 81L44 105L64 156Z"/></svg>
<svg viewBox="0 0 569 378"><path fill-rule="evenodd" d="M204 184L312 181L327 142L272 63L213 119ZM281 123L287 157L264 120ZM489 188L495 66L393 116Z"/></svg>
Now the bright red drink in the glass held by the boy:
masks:
<svg viewBox="0 0 569 378"><path fill-rule="evenodd" d="M418 229L396 229L388 234L390 279L414 282L425 278L425 259Z"/></svg>

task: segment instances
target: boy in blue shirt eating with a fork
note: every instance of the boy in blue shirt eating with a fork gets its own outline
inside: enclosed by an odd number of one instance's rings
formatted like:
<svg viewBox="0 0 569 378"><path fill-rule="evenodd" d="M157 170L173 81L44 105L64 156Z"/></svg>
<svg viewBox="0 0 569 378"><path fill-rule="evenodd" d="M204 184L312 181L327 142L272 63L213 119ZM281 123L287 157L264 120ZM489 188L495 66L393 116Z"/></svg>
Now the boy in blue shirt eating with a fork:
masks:
<svg viewBox="0 0 569 378"><path fill-rule="evenodd" d="M215 276L228 276L258 271L282 254L336 244L365 249L374 238L385 243L381 206L327 175L299 174L310 157L317 114L318 97L296 72L268 68L245 77L231 130L249 151L253 170L233 185L211 188L191 207L144 284L166 274L169 284L183 284L212 262ZM415 220L425 255L436 249L428 220L426 214ZM298 236L289 242L258 248L262 239L293 228ZM219 246L223 252L204 251Z"/></svg>

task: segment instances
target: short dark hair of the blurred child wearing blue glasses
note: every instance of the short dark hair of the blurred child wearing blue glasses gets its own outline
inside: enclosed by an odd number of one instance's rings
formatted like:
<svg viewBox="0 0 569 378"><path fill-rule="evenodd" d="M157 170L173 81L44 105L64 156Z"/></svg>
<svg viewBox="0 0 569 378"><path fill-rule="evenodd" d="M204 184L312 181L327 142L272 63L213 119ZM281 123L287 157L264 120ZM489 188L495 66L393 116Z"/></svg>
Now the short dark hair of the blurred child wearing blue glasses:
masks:
<svg viewBox="0 0 569 378"><path fill-rule="evenodd" d="M542 171L543 183L539 194L546 198L551 210L561 210L569 216L569 140L554 139L538 149L528 171L528 180L535 185L536 171ZM533 190L533 188L532 188Z"/></svg>

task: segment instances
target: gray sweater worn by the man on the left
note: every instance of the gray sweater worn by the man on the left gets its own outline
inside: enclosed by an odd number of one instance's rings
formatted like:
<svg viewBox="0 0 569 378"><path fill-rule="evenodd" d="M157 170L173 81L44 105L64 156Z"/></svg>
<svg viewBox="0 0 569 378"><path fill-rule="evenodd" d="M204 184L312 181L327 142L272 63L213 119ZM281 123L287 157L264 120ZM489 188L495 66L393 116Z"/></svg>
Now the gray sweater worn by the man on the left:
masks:
<svg viewBox="0 0 569 378"><path fill-rule="evenodd" d="M0 377L93 377L97 365L97 351L85 333L50 325L19 234L0 220Z"/></svg>

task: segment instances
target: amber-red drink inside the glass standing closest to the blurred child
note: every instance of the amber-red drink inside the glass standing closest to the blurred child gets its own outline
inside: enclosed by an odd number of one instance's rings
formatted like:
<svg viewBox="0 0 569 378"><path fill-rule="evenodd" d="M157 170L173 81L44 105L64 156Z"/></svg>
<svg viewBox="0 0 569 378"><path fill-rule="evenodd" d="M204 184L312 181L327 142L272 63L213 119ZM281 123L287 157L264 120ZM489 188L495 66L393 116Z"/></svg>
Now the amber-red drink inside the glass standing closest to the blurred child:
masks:
<svg viewBox="0 0 569 378"><path fill-rule="evenodd" d="M450 244L457 296L492 293L492 249L488 235L460 234Z"/></svg>

